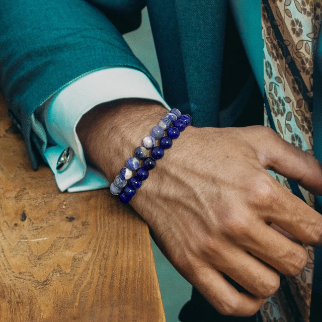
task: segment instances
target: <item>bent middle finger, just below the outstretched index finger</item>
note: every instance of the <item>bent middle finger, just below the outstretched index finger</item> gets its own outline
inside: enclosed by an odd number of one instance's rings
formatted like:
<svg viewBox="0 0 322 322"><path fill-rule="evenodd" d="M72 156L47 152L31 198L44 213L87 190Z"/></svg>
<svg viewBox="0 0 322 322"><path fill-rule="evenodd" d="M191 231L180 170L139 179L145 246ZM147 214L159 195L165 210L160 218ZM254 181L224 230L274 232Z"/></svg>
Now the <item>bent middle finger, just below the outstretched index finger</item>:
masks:
<svg viewBox="0 0 322 322"><path fill-rule="evenodd" d="M307 262L301 245L263 222L254 226L253 233L240 240L239 245L283 275L298 275Z"/></svg>

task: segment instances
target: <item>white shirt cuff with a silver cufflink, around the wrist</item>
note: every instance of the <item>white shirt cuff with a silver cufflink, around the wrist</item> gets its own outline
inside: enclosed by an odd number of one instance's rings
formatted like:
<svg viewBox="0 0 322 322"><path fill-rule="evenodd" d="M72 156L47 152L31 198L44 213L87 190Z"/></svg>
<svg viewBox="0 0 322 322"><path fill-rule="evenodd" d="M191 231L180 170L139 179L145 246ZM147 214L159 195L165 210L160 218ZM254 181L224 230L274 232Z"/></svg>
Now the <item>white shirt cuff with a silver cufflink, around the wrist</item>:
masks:
<svg viewBox="0 0 322 322"><path fill-rule="evenodd" d="M143 72L125 67L105 68L82 76L37 109L37 121L44 126L48 141L44 157L60 191L79 192L109 187L106 176L86 164L76 125L93 107L125 98L154 100L170 110ZM58 158L68 147L72 149L73 157L64 170L58 172Z"/></svg>

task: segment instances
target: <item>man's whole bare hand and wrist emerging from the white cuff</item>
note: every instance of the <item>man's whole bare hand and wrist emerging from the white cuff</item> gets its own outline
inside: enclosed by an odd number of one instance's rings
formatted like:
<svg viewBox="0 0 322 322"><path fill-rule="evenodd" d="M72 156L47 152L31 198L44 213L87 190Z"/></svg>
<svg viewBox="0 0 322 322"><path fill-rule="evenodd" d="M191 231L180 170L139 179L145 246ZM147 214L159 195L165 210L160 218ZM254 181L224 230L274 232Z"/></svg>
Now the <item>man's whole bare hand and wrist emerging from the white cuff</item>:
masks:
<svg viewBox="0 0 322 322"><path fill-rule="evenodd" d="M96 107L77 127L88 160L113 180L165 113L139 100ZM304 268L304 248L271 223L306 245L322 245L322 216L267 169L322 194L317 160L271 129L190 126L131 201L169 261L221 314L255 314L277 291L278 272Z"/></svg>

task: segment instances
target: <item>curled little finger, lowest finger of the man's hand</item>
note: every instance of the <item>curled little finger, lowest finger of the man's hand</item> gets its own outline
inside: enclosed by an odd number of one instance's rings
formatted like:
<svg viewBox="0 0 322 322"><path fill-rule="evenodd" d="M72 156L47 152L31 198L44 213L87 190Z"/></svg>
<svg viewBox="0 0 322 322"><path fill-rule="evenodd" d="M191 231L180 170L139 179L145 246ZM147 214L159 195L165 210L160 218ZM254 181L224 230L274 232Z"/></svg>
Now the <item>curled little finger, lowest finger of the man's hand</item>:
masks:
<svg viewBox="0 0 322 322"><path fill-rule="evenodd" d="M198 273L194 286L220 314L252 316L266 302L251 294L239 293L213 268L204 267Z"/></svg>

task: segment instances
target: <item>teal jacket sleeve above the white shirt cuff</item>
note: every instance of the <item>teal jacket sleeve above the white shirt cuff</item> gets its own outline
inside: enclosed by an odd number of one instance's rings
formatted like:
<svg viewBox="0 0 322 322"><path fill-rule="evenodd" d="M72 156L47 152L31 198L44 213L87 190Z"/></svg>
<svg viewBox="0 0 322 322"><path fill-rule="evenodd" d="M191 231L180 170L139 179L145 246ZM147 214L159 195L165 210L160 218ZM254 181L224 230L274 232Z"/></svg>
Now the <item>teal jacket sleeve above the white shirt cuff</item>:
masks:
<svg viewBox="0 0 322 322"><path fill-rule="evenodd" d="M143 7L142 0L0 0L1 89L34 170L43 143L34 111L70 82L106 67L132 67L158 89L121 34L140 25Z"/></svg>

